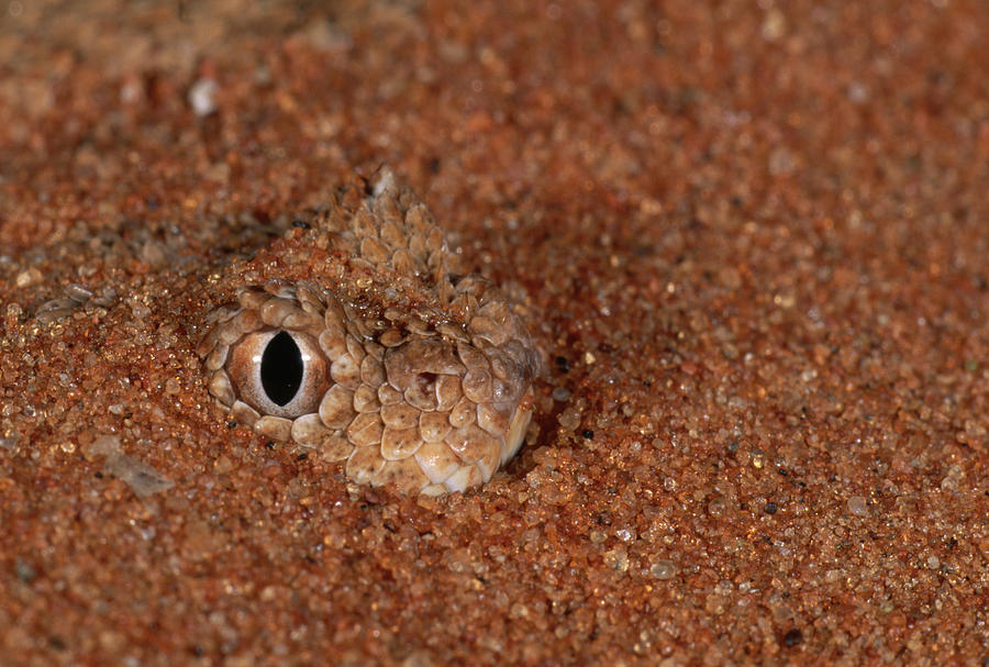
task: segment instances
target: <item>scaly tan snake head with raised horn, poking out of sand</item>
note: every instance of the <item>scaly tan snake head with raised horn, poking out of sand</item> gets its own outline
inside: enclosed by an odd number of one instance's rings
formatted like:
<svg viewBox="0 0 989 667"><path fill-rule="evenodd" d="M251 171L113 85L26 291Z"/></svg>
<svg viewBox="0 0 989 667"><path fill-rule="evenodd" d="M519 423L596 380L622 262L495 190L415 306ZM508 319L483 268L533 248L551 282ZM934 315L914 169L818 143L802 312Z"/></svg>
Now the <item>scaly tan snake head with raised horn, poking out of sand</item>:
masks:
<svg viewBox="0 0 989 667"><path fill-rule="evenodd" d="M542 360L519 307L387 167L296 226L308 279L241 285L204 315L209 393L238 424L358 485L440 496L520 449Z"/></svg>

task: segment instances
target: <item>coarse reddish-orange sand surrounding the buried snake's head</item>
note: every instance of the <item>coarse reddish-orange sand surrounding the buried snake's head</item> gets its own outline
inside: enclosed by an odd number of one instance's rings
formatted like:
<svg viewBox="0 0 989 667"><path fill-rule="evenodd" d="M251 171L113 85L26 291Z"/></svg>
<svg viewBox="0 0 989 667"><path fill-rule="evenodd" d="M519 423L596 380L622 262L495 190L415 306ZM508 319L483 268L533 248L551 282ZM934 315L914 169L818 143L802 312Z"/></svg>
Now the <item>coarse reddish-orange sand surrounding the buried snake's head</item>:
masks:
<svg viewBox="0 0 989 667"><path fill-rule="evenodd" d="M989 4L819 4L0 7L0 664L987 664ZM464 496L195 354L382 163L546 353Z"/></svg>

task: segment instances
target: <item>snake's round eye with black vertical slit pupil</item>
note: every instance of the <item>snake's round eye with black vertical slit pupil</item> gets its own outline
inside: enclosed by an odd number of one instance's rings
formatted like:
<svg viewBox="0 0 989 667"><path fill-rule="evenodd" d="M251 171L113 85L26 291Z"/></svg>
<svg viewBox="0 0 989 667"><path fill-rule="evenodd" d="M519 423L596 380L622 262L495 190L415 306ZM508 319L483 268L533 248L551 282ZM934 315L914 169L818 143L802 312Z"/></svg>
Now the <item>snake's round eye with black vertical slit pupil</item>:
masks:
<svg viewBox="0 0 989 667"><path fill-rule="evenodd" d="M241 400L263 414L296 418L316 412L330 388L330 364L299 331L268 329L230 348L226 369Z"/></svg>

